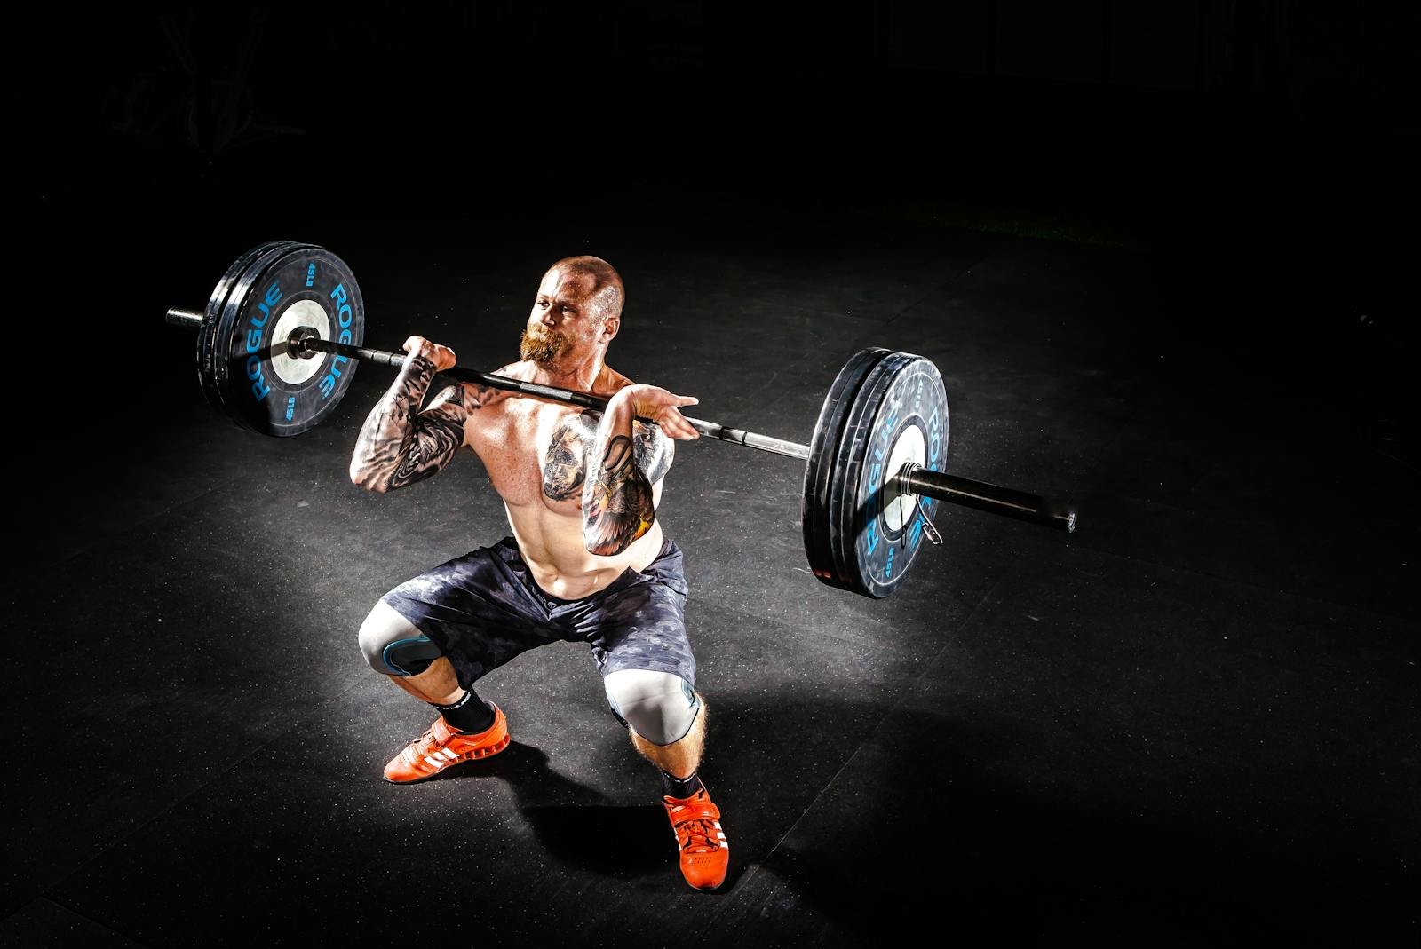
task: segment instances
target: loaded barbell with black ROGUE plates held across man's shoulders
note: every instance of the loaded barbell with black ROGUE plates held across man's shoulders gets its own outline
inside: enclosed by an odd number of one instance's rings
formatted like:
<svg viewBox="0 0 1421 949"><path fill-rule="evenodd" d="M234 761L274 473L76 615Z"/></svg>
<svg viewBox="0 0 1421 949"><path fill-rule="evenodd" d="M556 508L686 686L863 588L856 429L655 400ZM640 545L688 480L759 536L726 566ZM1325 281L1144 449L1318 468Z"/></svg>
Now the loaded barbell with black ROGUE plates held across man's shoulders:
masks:
<svg viewBox="0 0 1421 949"><path fill-rule="evenodd" d="M355 361L398 368L408 358L361 345L365 305L350 267L324 247L290 240L237 257L200 313L173 308L168 322L198 330L207 401L259 435L320 425L350 388ZM594 411L608 402L466 367L442 375ZM810 568L820 581L867 597L902 584L924 537L941 543L932 524L938 500L1076 528L1076 511L1063 504L938 470L948 448L946 392L938 368L909 352L855 352L830 385L809 445L686 421L705 436L803 460Z"/></svg>

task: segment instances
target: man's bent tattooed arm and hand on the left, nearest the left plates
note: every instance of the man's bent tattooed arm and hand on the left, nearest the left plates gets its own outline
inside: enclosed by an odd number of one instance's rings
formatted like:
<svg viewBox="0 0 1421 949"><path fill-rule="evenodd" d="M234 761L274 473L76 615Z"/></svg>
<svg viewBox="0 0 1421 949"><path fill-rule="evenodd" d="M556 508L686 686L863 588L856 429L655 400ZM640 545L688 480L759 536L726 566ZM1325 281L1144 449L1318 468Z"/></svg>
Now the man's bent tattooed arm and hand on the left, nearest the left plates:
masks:
<svg viewBox="0 0 1421 949"><path fill-rule="evenodd" d="M367 490L384 493L414 484L448 465L465 443L465 419L487 398L482 386L450 385L421 412L436 365L453 365L449 349L423 340L421 344L405 344L411 357L371 409L355 442L350 474Z"/></svg>

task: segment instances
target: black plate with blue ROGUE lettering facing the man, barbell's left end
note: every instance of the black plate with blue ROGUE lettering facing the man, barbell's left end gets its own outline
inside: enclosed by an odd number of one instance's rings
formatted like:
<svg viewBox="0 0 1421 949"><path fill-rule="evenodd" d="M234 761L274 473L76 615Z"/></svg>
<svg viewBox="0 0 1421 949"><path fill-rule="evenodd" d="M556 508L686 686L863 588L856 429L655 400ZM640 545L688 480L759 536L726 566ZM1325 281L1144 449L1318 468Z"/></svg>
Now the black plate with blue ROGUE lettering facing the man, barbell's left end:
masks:
<svg viewBox="0 0 1421 949"><path fill-rule="evenodd" d="M360 286L350 267L323 247L276 246L237 277L213 334L215 388L242 428L300 435L320 425L350 388L355 362L347 357L286 357L286 341L300 325L324 340L360 345L365 335Z"/></svg>

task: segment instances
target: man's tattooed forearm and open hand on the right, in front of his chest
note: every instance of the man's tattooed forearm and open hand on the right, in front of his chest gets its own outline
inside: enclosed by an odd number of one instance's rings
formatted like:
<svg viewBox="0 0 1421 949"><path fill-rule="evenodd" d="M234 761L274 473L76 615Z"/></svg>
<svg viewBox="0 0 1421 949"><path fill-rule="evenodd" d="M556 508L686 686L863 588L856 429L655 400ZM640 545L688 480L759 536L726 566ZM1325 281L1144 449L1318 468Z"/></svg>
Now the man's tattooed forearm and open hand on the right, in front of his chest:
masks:
<svg viewBox="0 0 1421 949"><path fill-rule="evenodd" d="M671 467L675 448L666 436L699 438L676 406L695 402L655 386L631 385L607 403L587 452L583 483L583 543L588 553L620 554L651 530L657 519L652 486ZM634 432L634 415L655 419L659 428L638 422Z"/></svg>

